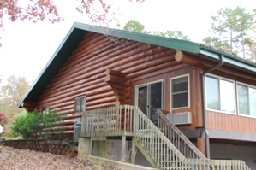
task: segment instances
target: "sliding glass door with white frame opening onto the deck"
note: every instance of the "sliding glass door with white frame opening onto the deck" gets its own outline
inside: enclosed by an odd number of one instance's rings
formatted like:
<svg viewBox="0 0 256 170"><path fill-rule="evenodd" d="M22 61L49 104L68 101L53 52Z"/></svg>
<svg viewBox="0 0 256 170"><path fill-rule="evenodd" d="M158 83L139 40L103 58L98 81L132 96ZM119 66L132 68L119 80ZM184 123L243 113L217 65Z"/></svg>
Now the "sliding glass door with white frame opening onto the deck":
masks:
<svg viewBox="0 0 256 170"><path fill-rule="evenodd" d="M156 126L158 126L157 109L164 108L163 81L139 85L136 91L136 105Z"/></svg>

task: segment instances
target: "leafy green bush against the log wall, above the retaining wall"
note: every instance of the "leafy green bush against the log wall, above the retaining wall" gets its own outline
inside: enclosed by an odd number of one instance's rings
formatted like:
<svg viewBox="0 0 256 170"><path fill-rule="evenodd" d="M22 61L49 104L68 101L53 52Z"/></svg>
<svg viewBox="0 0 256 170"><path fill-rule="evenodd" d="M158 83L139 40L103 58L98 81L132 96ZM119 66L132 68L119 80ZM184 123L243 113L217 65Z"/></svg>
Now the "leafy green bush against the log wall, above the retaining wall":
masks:
<svg viewBox="0 0 256 170"><path fill-rule="evenodd" d="M37 138L39 134L44 132L44 137L50 138L54 123L62 120L63 116L56 112L42 114L37 110L34 110L31 113L23 111L16 116L16 119L11 126L12 136Z"/></svg>

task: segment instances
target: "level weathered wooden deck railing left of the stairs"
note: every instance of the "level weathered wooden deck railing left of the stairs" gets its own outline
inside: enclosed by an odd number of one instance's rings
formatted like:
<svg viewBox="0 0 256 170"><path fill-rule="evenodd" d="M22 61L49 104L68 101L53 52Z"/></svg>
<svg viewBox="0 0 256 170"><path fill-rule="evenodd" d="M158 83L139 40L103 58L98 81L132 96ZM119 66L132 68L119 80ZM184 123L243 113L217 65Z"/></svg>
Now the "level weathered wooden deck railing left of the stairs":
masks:
<svg viewBox="0 0 256 170"><path fill-rule="evenodd" d="M82 114L81 137L108 137L133 133L134 109L127 105L98 108Z"/></svg>

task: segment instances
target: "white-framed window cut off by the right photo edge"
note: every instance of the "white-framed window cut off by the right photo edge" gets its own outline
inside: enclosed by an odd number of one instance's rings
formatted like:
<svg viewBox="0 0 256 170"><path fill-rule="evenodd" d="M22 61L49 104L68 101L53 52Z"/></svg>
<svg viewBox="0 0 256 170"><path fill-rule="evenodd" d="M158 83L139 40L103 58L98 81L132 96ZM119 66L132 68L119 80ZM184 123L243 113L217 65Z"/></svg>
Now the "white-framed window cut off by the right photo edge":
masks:
<svg viewBox="0 0 256 170"><path fill-rule="evenodd" d="M237 84L239 114L256 117L256 88Z"/></svg>

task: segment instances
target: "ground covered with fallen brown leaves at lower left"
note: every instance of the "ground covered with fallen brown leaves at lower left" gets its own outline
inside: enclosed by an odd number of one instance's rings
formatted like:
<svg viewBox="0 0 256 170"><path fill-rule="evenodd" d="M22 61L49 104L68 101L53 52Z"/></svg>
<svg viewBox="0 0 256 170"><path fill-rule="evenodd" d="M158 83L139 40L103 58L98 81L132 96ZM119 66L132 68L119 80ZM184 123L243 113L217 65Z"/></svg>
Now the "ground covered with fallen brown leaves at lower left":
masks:
<svg viewBox="0 0 256 170"><path fill-rule="evenodd" d="M28 149L14 149L0 145L1 170L116 170L101 164L92 164L63 155L37 152Z"/></svg>

